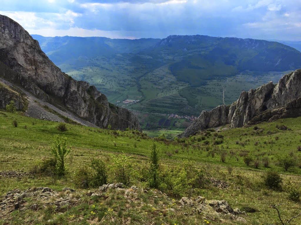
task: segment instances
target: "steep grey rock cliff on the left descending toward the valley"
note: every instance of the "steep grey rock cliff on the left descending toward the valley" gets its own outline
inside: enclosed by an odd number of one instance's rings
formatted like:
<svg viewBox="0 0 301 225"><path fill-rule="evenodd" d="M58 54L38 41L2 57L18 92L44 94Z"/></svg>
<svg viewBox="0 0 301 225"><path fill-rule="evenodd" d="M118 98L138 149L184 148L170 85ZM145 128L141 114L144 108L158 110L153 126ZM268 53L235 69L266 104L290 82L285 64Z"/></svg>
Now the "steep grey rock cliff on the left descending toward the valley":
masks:
<svg viewBox="0 0 301 225"><path fill-rule="evenodd" d="M0 15L0 76L33 93L39 99L72 111L82 119L106 128L140 129L129 110L118 108L95 86L63 73L42 52L17 22ZM12 71L13 72L12 72Z"/></svg>

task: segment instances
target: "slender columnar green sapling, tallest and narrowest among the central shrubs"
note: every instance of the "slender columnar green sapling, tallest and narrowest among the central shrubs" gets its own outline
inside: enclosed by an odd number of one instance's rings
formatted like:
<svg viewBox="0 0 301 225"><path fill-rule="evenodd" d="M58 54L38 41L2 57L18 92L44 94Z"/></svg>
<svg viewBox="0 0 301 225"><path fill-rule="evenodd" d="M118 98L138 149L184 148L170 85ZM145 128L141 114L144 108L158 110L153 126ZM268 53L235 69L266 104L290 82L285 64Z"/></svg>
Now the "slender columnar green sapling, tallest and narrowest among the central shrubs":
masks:
<svg viewBox="0 0 301 225"><path fill-rule="evenodd" d="M159 149L157 148L156 143L153 141L150 145L150 179L149 185L150 187L157 188L159 186L158 179L158 169L159 169Z"/></svg>

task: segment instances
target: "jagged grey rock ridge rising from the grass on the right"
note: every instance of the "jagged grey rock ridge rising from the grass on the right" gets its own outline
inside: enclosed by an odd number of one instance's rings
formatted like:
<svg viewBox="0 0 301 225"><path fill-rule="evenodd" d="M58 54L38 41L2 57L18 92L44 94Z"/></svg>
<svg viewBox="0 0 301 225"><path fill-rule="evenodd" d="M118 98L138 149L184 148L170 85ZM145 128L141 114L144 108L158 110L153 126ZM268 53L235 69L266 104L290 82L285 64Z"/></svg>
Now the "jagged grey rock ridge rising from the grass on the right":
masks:
<svg viewBox="0 0 301 225"><path fill-rule="evenodd" d="M178 137L230 124L237 128L247 124L301 116L301 69L284 75L278 82L243 91L231 105L221 105L200 116Z"/></svg>

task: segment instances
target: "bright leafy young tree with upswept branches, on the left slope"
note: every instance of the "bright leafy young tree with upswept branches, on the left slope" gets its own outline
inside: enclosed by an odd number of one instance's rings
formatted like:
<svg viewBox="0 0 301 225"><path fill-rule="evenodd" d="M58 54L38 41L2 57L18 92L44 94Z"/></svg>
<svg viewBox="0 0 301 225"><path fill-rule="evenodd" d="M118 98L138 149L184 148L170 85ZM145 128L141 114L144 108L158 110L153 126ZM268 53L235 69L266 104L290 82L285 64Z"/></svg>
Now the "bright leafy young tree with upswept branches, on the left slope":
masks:
<svg viewBox="0 0 301 225"><path fill-rule="evenodd" d="M71 152L71 148L67 148L67 138L60 138L58 135L54 136L54 143L51 146L51 154L57 160L58 175L64 175L65 165L64 158Z"/></svg>

